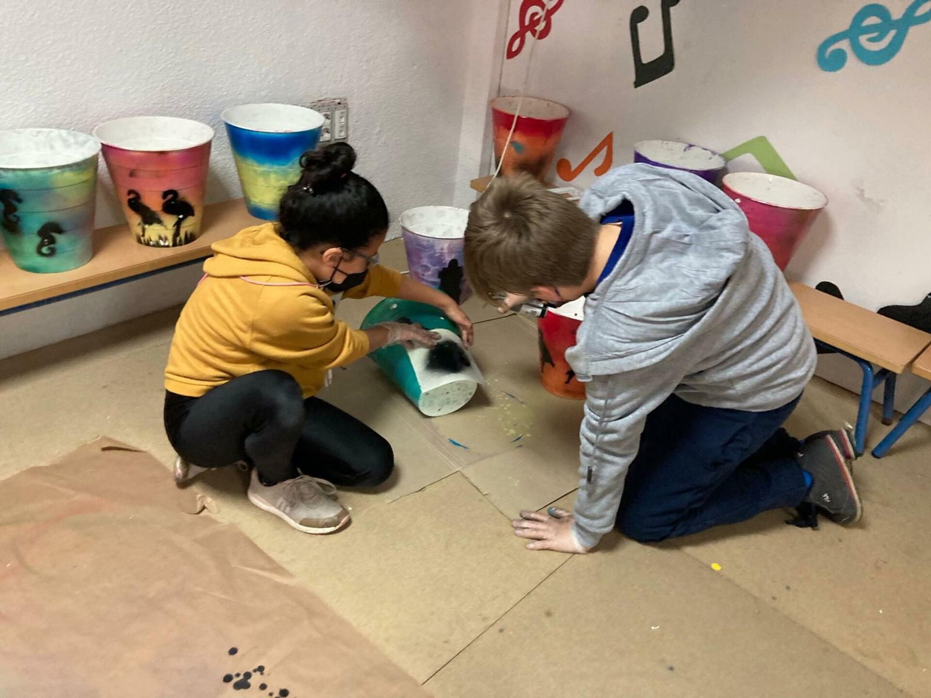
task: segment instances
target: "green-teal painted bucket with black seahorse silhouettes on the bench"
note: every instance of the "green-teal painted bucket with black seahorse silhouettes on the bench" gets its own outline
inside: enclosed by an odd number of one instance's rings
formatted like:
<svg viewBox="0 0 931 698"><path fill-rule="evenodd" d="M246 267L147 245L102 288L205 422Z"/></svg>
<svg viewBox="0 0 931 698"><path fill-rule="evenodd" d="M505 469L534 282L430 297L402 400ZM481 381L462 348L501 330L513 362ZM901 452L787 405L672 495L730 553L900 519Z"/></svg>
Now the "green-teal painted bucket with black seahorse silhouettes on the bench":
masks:
<svg viewBox="0 0 931 698"><path fill-rule="evenodd" d="M90 261L100 151L77 131L0 131L0 230L20 269L49 274Z"/></svg>

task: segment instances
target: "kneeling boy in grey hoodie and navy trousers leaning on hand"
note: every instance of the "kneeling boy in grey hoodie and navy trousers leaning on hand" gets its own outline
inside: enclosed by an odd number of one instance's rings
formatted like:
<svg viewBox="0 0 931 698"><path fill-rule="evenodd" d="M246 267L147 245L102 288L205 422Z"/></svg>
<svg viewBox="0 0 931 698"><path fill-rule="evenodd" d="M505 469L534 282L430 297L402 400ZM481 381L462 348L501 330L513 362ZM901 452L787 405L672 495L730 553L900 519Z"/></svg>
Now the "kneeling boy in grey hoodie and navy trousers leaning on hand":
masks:
<svg viewBox="0 0 931 698"><path fill-rule="evenodd" d="M566 354L586 383L579 491L573 513L512 522L528 548L587 552L613 527L660 541L781 507L860 517L846 430L799 441L781 428L814 342L769 249L717 187L630 165L576 207L528 176L499 178L470 209L465 255L479 296L587 296Z"/></svg>

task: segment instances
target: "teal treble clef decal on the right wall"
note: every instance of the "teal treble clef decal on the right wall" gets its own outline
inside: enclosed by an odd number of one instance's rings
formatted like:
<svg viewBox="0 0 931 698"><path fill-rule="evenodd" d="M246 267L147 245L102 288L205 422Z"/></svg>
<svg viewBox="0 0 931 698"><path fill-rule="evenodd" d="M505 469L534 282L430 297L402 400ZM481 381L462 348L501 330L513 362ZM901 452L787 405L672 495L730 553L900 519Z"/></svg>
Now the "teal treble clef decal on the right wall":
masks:
<svg viewBox="0 0 931 698"><path fill-rule="evenodd" d="M922 7L924 11L920 12ZM867 65L882 65L895 57L911 27L928 21L931 21L931 0L914 0L897 20L883 5L870 3L854 15L849 28L821 42L817 47L817 64L829 73L841 70L847 63L847 52L835 45L849 41L850 50L859 60Z"/></svg>

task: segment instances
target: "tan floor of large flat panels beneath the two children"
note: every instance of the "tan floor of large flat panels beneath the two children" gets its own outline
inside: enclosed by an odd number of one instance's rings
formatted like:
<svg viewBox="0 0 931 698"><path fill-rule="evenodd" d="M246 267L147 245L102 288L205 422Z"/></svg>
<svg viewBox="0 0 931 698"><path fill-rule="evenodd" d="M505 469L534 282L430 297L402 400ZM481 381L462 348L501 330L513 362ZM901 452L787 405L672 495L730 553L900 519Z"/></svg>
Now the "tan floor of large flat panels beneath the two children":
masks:
<svg viewBox="0 0 931 698"><path fill-rule="evenodd" d="M402 256L398 243L383 255ZM358 322L368 307L340 312ZM799 530L771 512L668 544L613 536L587 556L530 553L507 517L571 503L581 405L537 383L532 326L470 310L487 385L466 409L426 419L367 360L324 395L398 456L380 490L342 493L347 530L289 529L247 502L232 470L199 485L216 516L440 697L931 695L931 429L857 462L866 513L850 529ZM176 313L0 362L0 477L100 434L168 464L161 376ZM816 381L790 426L855 410ZM870 438L881 434L874 423Z"/></svg>

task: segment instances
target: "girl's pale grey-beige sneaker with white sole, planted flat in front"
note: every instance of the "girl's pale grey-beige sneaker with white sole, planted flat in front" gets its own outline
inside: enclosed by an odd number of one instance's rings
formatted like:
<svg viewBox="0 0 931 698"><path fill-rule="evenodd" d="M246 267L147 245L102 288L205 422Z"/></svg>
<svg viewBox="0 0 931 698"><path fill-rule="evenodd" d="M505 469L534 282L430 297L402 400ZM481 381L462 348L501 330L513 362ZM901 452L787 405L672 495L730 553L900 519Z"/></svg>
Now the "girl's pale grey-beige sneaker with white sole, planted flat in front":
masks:
<svg viewBox="0 0 931 698"><path fill-rule="evenodd" d="M249 501L304 533L331 533L349 523L349 512L334 502L336 488L317 477L301 475L277 485L263 485L252 469Z"/></svg>

